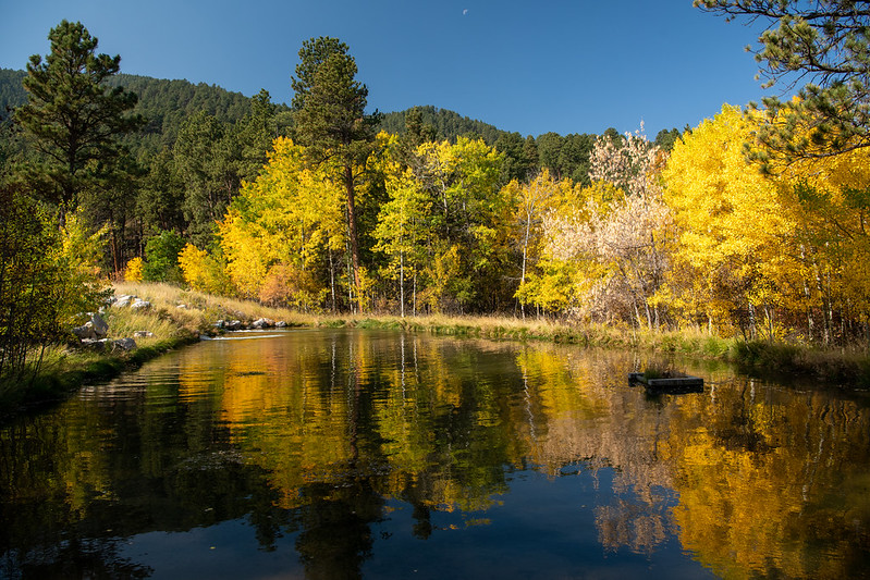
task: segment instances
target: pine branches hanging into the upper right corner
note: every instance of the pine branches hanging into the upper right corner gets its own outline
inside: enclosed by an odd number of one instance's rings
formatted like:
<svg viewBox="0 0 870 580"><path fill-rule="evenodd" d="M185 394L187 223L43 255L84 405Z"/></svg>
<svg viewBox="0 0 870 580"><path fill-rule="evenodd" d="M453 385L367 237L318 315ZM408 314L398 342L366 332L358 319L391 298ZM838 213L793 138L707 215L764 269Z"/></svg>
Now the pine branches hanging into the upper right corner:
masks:
<svg viewBox="0 0 870 580"><path fill-rule="evenodd" d="M752 49L765 86L808 83L798 99L764 99L758 138L775 158L828 157L870 146L870 9L854 0L695 0L724 16L767 22ZM770 152L752 157L770 163Z"/></svg>

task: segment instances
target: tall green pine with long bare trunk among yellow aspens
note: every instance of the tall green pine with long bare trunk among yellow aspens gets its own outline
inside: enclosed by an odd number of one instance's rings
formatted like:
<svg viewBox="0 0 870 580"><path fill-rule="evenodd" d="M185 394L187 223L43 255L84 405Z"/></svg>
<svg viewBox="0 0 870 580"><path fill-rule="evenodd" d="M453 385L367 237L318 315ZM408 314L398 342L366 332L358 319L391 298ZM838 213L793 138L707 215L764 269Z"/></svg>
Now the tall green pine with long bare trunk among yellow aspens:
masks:
<svg viewBox="0 0 870 580"><path fill-rule="evenodd" d="M359 234L356 187L373 150L379 114L366 114L368 88L355 79L347 45L319 37L303 42L292 79L296 137L315 165L327 164L345 192L354 286L359 298Z"/></svg>

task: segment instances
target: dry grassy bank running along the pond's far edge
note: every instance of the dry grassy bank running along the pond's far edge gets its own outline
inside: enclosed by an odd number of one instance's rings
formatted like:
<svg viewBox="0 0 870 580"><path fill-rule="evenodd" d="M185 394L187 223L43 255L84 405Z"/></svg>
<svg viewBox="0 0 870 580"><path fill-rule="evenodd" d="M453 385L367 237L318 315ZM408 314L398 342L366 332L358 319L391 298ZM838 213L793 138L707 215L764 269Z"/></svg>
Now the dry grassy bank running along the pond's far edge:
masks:
<svg viewBox="0 0 870 580"><path fill-rule="evenodd" d="M637 348L664 356L723 360L756 375L805 375L846 387L870 387L870 355L859 349L820 349L764 342L740 342L702 332L649 332L602 324L566 325L510 317L315 316L254 301L212 296L151 283L117 283L117 296L133 295L150 308L106 310L110 338L135 334L131 351L96 353L62 345L49 348L35 378L0 384L0 411L58 400L83 384L106 381L161 354L219 332L219 320L243 323L265 318L289 326L394 329L436 335L511 341L543 341L583 347Z"/></svg>

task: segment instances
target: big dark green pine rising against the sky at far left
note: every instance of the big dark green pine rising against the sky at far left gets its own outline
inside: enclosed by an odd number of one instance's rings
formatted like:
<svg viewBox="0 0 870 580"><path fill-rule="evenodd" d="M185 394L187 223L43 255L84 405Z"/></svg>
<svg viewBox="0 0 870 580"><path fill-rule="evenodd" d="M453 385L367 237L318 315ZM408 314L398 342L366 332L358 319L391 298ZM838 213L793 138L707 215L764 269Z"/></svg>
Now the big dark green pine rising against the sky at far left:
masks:
<svg viewBox="0 0 870 580"><path fill-rule="evenodd" d="M28 177L62 208L63 221L82 190L118 169L124 155L118 139L138 129L143 119L127 114L136 104L135 94L106 85L121 58L97 54L97 38L82 23L64 20L48 38L51 52L45 60L34 54L27 63L23 83L29 101L15 118L39 152Z"/></svg>

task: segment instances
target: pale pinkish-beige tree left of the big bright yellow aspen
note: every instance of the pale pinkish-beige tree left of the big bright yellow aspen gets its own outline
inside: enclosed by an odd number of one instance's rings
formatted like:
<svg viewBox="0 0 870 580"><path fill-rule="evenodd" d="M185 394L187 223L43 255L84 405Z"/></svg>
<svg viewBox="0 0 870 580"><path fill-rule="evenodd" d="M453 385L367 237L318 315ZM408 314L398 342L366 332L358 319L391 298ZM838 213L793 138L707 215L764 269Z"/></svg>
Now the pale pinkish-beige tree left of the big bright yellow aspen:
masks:
<svg viewBox="0 0 870 580"><path fill-rule="evenodd" d="M663 153L641 132L602 135L590 158L592 182L581 207L544 222L548 254L583 264L575 276L579 313L591 318L662 320L653 299L669 268L670 215L659 173Z"/></svg>

